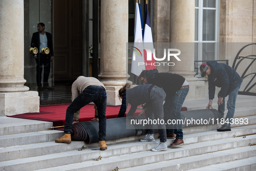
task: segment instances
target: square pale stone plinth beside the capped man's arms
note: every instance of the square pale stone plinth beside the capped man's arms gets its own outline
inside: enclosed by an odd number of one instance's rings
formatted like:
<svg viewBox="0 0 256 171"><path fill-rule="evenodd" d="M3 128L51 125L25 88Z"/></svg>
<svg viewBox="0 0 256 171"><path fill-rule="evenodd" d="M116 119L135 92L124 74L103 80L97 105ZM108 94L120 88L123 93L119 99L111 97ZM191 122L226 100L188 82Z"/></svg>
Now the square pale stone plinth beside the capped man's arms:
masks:
<svg viewBox="0 0 256 171"><path fill-rule="evenodd" d="M204 81L188 81L188 83L189 83L189 92L185 100L205 98Z"/></svg>

